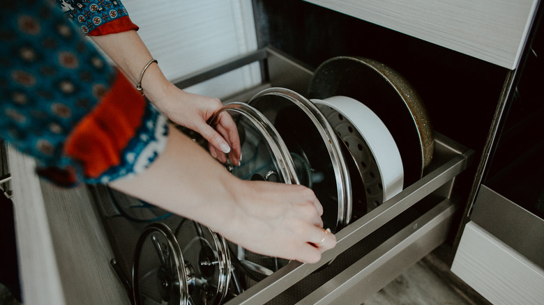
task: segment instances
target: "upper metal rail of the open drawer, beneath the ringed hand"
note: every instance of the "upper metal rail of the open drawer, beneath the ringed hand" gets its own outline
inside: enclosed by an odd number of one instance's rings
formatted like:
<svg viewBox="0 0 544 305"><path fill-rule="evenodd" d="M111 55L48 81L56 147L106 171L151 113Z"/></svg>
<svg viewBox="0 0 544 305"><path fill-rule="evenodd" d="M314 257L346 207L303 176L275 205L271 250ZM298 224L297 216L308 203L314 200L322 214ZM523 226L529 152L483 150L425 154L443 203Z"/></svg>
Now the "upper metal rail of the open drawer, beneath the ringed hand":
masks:
<svg viewBox="0 0 544 305"><path fill-rule="evenodd" d="M436 145L437 155L435 155L435 159L444 159L444 155L453 155L453 157L430 171L421 180L375 208L375 210L365 214L365 216L336 233L336 247L324 252L322 260L316 264L289 263L289 265L227 302L227 305L264 304L269 302L275 295L279 295L287 288L301 281L305 276L308 276L308 274L333 260L340 253L363 240L370 233L391 221L391 219L425 198L425 196L451 182L455 176L467 169L471 162L471 156L474 155L473 150L462 148L458 143L441 134L436 134Z"/></svg>

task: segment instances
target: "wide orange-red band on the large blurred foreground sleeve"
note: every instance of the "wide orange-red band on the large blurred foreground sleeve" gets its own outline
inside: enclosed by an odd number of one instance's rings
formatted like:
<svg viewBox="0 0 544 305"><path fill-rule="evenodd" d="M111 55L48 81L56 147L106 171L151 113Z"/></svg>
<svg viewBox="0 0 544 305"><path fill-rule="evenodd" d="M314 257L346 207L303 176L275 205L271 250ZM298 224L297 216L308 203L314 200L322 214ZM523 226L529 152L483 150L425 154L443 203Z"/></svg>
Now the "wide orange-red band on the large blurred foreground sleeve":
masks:
<svg viewBox="0 0 544 305"><path fill-rule="evenodd" d="M142 124L145 107L144 97L118 70L112 88L70 134L66 155L79 161L89 178L118 165L122 150Z"/></svg>

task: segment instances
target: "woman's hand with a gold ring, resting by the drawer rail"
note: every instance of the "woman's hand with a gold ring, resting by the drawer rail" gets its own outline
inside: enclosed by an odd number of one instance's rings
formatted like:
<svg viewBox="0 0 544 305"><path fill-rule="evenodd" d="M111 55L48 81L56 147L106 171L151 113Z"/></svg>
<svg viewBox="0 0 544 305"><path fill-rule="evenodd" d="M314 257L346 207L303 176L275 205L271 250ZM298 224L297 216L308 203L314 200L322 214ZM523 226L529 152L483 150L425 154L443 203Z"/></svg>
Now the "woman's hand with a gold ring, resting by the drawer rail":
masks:
<svg viewBox="0 0 544 305"><path fill-rule="evenodd" d="M229 224L217 228L228 240L255 253L317 263L336 244L323 228L322 205L301 185L242 181Z"/></svg>

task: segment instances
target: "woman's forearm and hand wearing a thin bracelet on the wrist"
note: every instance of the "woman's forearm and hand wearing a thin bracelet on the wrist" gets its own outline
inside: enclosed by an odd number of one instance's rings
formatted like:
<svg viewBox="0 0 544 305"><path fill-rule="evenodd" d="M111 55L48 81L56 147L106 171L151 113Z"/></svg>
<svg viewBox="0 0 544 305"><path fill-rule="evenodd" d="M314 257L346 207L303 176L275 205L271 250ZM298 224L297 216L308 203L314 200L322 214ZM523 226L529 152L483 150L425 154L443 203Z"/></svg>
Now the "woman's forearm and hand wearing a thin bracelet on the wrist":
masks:
<svg viewBox="0 0 544 305"><path fill-rule="evenodd" d="M89 36L116 63L125 75L137 84L142 69L153 58L135 30ZM146 69L142 78L146 97L174 123L195 130L211 143L210 152L221 162L225 153L233 164L239 164L241 149L236 125L229 116L222 116L218 131L206 121L222 106L220 100L182 91L168 81L156 63Z"/></svg>

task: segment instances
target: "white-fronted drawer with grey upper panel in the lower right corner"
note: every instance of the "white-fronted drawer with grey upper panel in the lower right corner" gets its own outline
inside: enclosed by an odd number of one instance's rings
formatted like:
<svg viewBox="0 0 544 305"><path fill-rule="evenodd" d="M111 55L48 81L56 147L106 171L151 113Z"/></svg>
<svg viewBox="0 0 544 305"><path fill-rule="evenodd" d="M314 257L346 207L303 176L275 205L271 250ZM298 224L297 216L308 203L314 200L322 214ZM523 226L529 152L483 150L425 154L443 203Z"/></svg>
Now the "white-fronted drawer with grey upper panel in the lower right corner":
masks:
<svg viewBox="0 0 544 305"><path fill-rule="evenodd" d="M451 271L492 304L542 304L544 219L481 186Z"/></svg>

